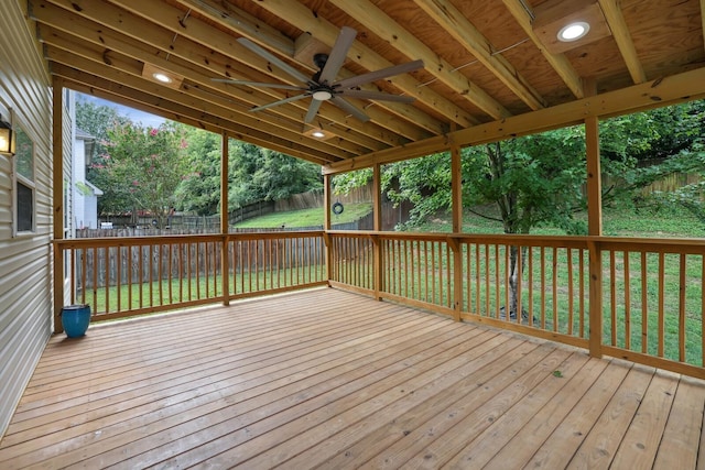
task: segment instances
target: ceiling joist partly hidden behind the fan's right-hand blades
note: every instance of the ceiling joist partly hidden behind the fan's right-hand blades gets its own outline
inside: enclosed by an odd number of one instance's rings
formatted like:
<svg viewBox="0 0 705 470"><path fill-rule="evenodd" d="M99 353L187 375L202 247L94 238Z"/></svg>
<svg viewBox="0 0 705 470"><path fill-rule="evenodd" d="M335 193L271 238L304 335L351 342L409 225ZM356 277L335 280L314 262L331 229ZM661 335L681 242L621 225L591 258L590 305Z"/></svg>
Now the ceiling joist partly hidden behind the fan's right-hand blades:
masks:
<svg viewBox="0 0 705 470"><path fill-rule="evenodd" d="M258 2L258 7L280 17L302 31L310 32L314 37L325 44L335 44L335 40L338 37L338 33L340 32L338 26L334 25L326 19L318 17L318 14L296 1L268 0L264 2ZM378 70L395 65L359 41L355 41L352 43L350 52L348 53L348 58L358 63L368 70ZM479 122L471 114L455 106L451 100L444 98L440 94L436 94L429 87L421 86L421 84L411 75L398 75L389 77L386 80L463 128L475 125ZM436 133L443 133L446 131L447 129L442 128Z"/></svg>

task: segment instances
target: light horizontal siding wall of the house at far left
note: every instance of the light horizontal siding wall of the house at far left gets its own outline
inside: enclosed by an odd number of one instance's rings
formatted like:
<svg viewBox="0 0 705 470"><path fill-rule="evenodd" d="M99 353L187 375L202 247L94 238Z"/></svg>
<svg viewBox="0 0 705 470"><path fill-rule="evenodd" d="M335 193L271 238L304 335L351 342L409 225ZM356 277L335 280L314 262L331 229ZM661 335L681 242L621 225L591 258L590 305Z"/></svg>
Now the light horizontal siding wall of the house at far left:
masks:
<svg viewBox="0 0 705 470"><path fill-rule="evenodd" d="M0 155L0 435L52 332L52 107L50 78L24 20L2 0L0 102L34 141L36 232L12 237L12 162Z"/></svg>

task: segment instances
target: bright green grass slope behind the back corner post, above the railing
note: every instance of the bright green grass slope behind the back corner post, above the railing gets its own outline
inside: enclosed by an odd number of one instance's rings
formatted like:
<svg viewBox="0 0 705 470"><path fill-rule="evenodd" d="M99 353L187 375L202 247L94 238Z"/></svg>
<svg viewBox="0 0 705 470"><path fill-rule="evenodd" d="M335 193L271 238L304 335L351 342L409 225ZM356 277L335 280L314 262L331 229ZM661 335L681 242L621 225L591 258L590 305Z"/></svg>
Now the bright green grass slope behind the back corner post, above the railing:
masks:
<svg viewBox="0 0 705 470"><path fill-rule="evenodd" d="M358 220L372 211L372 203L346 204L343 214L330 214L332 223L347 223ZM323 207L313 209L291 210L288 212L273 212L267 216L254 217L236 223L238 229L274 229L274 228L301 228L323 226Z"/></svg>

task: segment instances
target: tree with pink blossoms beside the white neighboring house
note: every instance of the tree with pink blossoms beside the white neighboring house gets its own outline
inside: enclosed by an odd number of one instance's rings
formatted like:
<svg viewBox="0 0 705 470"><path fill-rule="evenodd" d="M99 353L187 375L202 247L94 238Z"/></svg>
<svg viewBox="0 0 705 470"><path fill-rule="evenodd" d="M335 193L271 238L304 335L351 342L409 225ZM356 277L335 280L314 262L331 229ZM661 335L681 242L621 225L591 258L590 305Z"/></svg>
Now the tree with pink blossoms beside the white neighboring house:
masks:
<svg viewBox="0 0 705 470"><path fill-rule="evenodd" d="M182 132L166 122L143 129L131 122L108 131L107 152L94 163L96 183L104 188L104 211L145 210L158 227L175 205L175 190L185 172Z"/></svg>

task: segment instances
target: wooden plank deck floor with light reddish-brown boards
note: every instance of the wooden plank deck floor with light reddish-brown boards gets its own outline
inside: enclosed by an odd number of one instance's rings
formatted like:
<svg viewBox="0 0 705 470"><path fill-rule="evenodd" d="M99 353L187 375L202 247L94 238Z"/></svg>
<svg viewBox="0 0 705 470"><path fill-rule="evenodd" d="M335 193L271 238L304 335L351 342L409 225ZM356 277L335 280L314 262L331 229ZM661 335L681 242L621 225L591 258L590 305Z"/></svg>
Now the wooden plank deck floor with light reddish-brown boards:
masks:
<svg viewBox="0 0 705 470"><path fill-rule="evenodd" d="M705 464L705 383L318 288L54 337L0 468Z"/></svg>

